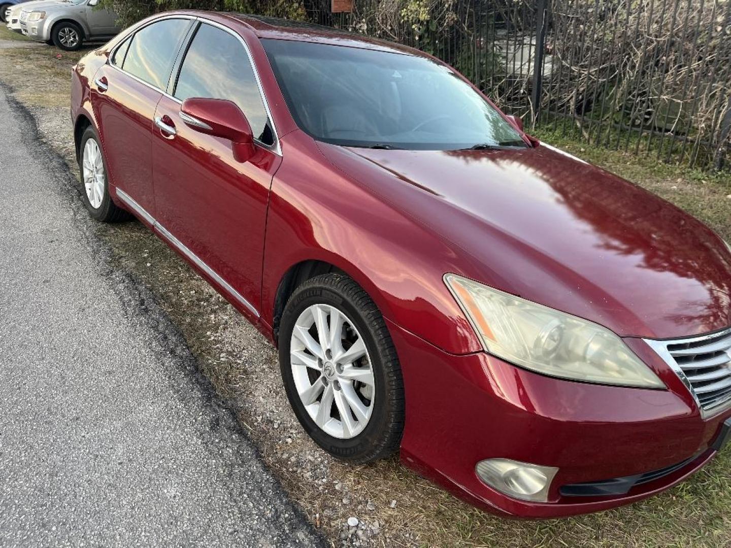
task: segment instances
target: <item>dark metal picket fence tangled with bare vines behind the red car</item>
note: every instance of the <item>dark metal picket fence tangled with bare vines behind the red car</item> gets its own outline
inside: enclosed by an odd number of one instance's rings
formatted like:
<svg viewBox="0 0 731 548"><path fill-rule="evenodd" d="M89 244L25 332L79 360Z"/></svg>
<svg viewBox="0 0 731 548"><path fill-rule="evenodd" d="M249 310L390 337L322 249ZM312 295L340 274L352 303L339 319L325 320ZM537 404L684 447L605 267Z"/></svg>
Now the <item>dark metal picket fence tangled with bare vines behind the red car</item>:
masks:
<svg viewBox="0 0 731 548"><path fill-rule="evenodd" d="M306 0L315 23L418 47L529 126L721 168L731 0Z"/></svg>

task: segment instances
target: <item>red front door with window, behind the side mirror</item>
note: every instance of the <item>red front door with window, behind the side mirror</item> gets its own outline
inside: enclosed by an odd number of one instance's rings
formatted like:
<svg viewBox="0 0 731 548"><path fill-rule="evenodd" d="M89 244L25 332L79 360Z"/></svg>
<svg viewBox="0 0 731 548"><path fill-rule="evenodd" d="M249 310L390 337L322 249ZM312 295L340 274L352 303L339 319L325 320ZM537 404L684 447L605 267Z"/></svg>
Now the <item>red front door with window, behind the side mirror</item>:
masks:
<svg viewBox="0 0 731 548"><path fill-rule="evenodd" d="M248 47L233 31L200 23L168 91L172 97L163 96L155 113L162 128L173 130L154 131L159 222L241 310L255 316L269 189L281 156ZM191 97L237 104L254 132L254 157L236 161L229 140L186 126L181 102Z"/></svg>

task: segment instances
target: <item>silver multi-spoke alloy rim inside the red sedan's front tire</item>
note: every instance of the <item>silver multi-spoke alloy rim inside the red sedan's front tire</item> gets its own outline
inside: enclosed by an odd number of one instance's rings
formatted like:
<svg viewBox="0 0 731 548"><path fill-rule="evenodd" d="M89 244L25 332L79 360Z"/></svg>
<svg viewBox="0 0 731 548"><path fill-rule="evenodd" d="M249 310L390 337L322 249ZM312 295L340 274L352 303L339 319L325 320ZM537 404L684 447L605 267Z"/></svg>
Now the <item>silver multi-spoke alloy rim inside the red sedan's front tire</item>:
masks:
<svg viewBox="0 0 731 548"><path fill-rule="evenodd" d="M289 345L292 376L315 424L334 438L363 432L374 409L374 373L366 343L338 308L312 305Z"/></svg>

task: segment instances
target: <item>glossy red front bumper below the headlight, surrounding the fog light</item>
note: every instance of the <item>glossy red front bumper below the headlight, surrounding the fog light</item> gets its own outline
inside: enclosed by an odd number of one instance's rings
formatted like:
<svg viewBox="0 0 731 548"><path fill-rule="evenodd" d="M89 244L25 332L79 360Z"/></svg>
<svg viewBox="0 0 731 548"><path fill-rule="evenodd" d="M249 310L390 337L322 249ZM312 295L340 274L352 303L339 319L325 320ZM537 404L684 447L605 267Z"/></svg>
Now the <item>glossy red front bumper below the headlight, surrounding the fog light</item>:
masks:
<svg viewBox="0 0 731 548"><path fill-rule="evenodd" d="M703 420L674 384L637 389L549 378L483 352L447 354L388 326L406 389L401 460L496 514L561 517L640 501L705 465L731 417L728 410ZM489 458L558 467L548 502L519 501L483 484L474 467ZM621 495L561 494L563 486L662 470L670 472L645 476Z"/></svg>

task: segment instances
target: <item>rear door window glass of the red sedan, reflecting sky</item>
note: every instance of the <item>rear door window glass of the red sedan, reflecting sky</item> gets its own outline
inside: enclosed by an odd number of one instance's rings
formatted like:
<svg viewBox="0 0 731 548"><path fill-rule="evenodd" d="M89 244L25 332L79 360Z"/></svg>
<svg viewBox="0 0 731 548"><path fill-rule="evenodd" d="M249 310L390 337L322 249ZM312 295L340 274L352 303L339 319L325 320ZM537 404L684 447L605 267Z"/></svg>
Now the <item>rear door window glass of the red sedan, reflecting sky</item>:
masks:
<svg viewBox="0 0 731 548"><path fill-rule="evenodd" d="M189 26L189 19L164 19L137 31L122 68L143 82L164 90L178 47Z"/></svg>

